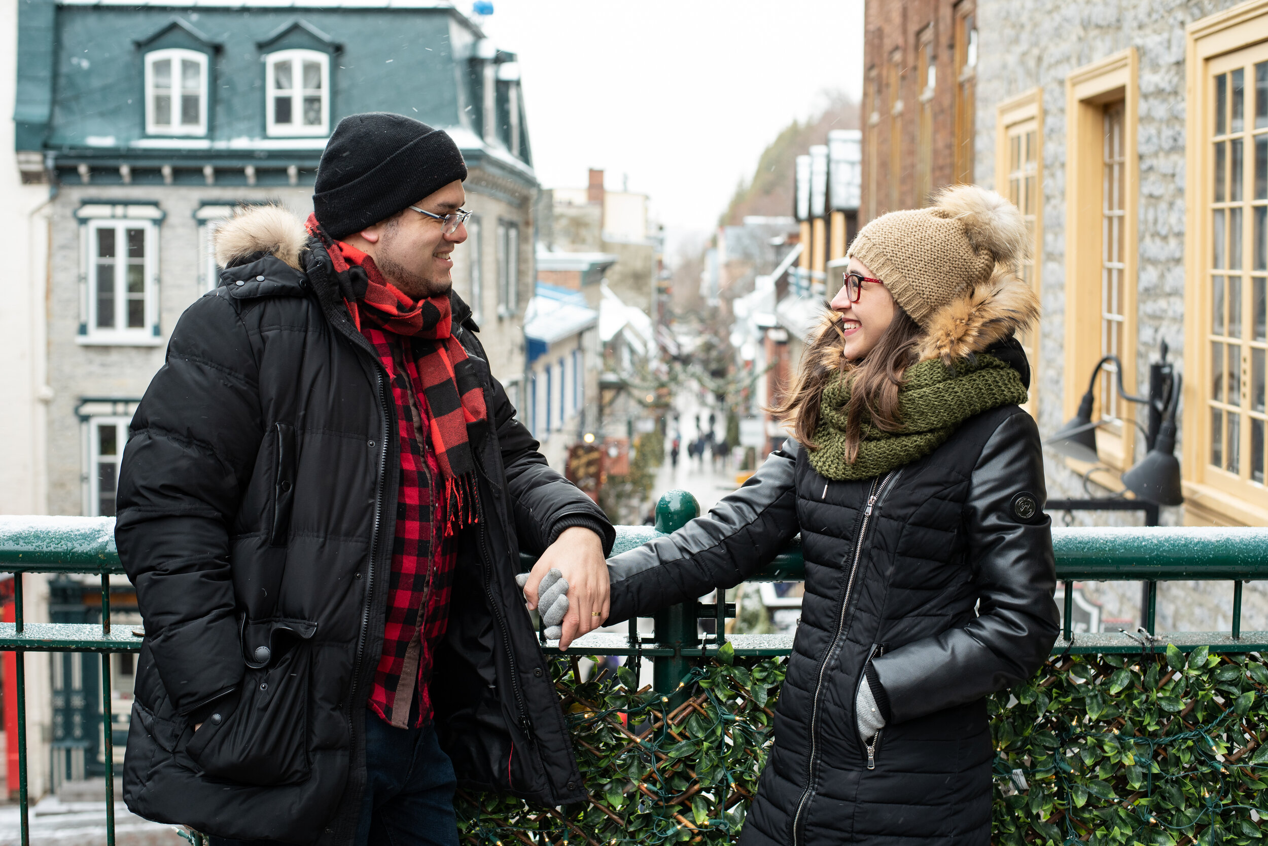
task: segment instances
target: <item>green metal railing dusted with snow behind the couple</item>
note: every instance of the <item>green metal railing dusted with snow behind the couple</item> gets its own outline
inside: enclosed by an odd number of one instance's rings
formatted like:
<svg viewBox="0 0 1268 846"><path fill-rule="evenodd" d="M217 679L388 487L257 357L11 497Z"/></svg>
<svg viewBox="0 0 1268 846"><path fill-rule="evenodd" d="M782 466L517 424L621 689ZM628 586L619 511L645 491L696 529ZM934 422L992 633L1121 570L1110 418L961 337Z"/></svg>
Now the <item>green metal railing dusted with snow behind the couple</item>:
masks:
<svg viewBox="0 0 1268 846"><path fill-rule="evenodd" d="M673 532L699 515L696 499L673 490L661 498L654 527L618 527L614 553ZM1168 643L1182 651L1207 646L1212 652L1258 652L1268 650L1268 632L1241 631L1241 588L1252 579L1268 579L1268 528L1054 528L1058 579L1065 586L1064 631L1054 653L1149 652ZM524 556L521 565L533 565ZM29 846L27 780L25 652L96 652L101 656L101 718L104 721L107 843L114 845L114 757L110 714L110 653L137 652L143 632L131 626L110 627L109 578L122 574L114 546L112 518L0 517L0 572L14 574L14 621L0 623L0 651L18 655L18 769L22 845ZM22 576L27 572L96 575L101 579L101 624L25 623ZM800 581L805 569L800 545L794 542L758 572L753 581ZM1075 581L1144 581L1149 585L1144 631L1129 633L1075 633L1070 629ZM1168 580L1232 581L1232 626L1230 632L1154 632L1158 583ZM719 591L721 593L721 591ZM578 638L573 655L621 655L635 662L653 661L653 686L672 697L690 666L716 653L729 642L737 655L787 655L791 634L730 634L725 623L735 613L724 600L683 603L654 617L654 634L643 637L637 621L629 633L593 632ZM714 634L701 640L699 619L715 621ZM558 653L554 643L543 643ZM194 840L198 840L197 836Z"/></svg>

